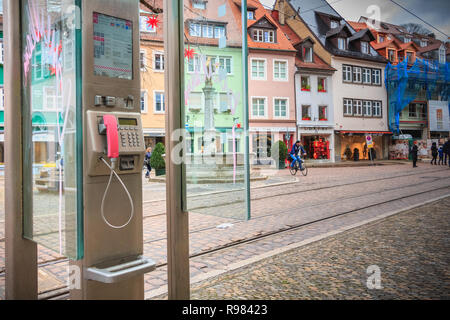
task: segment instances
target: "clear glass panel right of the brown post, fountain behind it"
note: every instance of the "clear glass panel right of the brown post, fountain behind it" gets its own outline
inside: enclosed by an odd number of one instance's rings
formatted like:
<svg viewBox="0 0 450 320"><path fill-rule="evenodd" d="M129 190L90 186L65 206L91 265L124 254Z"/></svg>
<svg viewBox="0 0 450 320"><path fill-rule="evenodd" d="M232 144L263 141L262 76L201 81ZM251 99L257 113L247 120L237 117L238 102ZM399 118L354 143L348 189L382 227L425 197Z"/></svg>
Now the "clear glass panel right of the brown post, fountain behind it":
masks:
<svg viewBox="0 0 450 320"><path fill-rule="evenodd" d="M185 210L245 220L241 14L233 1L184 0Z"/></svg>

